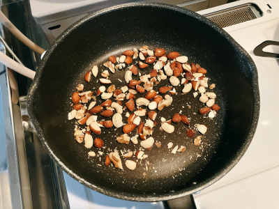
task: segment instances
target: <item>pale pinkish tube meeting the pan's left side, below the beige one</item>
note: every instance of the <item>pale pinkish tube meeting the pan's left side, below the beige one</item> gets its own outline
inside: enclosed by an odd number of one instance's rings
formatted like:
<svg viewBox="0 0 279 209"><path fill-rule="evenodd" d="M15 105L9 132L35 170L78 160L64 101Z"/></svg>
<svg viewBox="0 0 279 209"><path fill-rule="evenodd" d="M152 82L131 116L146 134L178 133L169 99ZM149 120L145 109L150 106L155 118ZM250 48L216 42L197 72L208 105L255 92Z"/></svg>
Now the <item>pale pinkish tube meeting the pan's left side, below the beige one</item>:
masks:
<svg viewBox="0 0 279 209"><path fill-rule="evenodd" d="M17 63L13 59L10 59L10 57L8 57L6 54L3 54L3 52L0 52L0 62L3 63L3 65L6 65L6 67L19 72L26 77L29 77L31 79L35 77L36 72L30 70L27 67L24 67L24 65Z"/></svg>

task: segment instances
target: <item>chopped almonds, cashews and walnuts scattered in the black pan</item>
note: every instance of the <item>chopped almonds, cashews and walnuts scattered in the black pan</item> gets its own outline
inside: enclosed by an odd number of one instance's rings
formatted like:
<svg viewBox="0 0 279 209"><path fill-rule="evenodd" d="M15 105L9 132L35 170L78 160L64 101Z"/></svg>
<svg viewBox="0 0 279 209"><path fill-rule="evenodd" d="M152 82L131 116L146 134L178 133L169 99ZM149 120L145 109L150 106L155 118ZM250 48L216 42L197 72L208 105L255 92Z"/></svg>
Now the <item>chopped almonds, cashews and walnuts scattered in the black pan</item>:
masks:
<svg viewBox="0 0 279 209"><path fill-rule="evenodd" d="M130 65L133 63L133 59L135 60L135 65ZM107 70L101 72L103 78L99 79L100 86L98 86L96 94L93 95L93 91L84 91L84 85L79 84L77 92L73 93L71 97L73 110L68 113L68 120L73 118L77 120L74 133L76 141L84 143L86 148L92 148L92 146L103 148L105 146L104 141L100 138L93 139L93 136L100 135L103 127L106 129L110 129L113 126L122 128L123 134L116 137L116 141L121 144L129 144L132 141L135 145L139 144L138 137L141 141L139 150L134 152L127 150L126 153L121 150L121 155L126 158L134 155L138 160L145 159L148 155L144 154L144 149L151 150L153 144L156 144L158 148L161 146L160 142L151 137L154 128L158 125L155 121L158 111L162 111L172 104L172 97L177 94L174 87L181 85L184 85L183 94L189 93L193 89L194 98L199 95L199 102L206 104L206 107L199 109L199 114L208 114L209 118L215 117L216 111L220 109L218 104L215 103L216 94L209 91L206 92L207 88L215 88L215 84L209 86L209 78L206 77L204 68L198 64L188 64L187 61L188 57L181 56L179 52L166 54L165 49L156 48L155 50L150 50L147 46L141 47L139 51L135 48L133 51L127 50L119 57L110 56L109 61L103 63ZM123 77L126 86L116 88L108 77L110 73L117 73L117 70L126 68L126 65L128 65L128 69ZM153 70L141 75L138 68L144 69L149 65L153 65ZM91 82L92 76L97 77L98 71L98 66L94 65L92 70L86 72L85 81ZM133 79L132 75L138 75L139 79ZM157 84L167 78L169 78L169 83L172 86L160 87L158 91L153 90ZM119 81L121 80L119 79ZM136 94L142 94L142 97L135 100ZM104 100L101 104L96 102L96 97L98 96ZM91 99L93 99L92 102L90 102ZM126 100L125 103L123 102L124 100ZM125 109L128 109L125 114L127 123L123 122L122 116ZM158 111L155 111L156 109ZM98 121L98 114L107 118L107 120ZM144 116L147 116L145 122L142 121ZM160 122L160 130L169 134L174 132L175 125L172 125L172 123L181 122L186 126L190 125L188 117L179 113L174 114L169 121L161 117ZM207 131L206 125L195 124L195 128L201 134L205 134ZM137 134L130 137L128 134L135 129L137 129ZM186 134L188 137L193 137L195 129L188 128ZM193 140L193 145L199 146L201 141L202 135L199 135ZM167 146L172 148L173 144L170 142ZM180 148L175 146L172 149L172 153L182 153L184 150L186 150L185 146ZM88 154L91 157L96 156L93 151ZM99 150L98 155L103 155L103 152ZM108 166L111 161L116 168L123 169L121 157L117 150L111 151L106 155L105 165ZM137 167L137 162L133 160L126 160L125 164L130 170L134 170Z"/></svg>

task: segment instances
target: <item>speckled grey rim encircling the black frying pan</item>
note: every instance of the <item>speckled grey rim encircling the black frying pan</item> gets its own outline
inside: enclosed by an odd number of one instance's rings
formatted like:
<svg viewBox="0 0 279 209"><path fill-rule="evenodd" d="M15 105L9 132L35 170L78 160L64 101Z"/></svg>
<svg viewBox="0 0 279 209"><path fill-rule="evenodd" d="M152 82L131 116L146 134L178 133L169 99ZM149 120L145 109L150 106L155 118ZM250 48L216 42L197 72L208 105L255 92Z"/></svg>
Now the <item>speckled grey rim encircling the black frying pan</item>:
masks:
<svg viewBox="0 0 279 209"><path fill-rule="evenodd" d="M43 130L40 127L40 124L36 120L36 117L33 115L33 103L32 103L33 99L32 98L33 98L34 92L38 88L38 85L36 85L36 83L40 81L40 77L43 72L45 63L46 63L47 59L50 57L50 54L52 54L56 45L58 45L59 42L63 41L63 38L65 38L68 33L73 31L78 26L82 25L83 22L89 21L99 15L108 13L111 10L119 10L121 8L134 7L134 6L153 6L153 7L155 6L158 8L167 8L167 9L171 9L171 10L176 10L179 13L187 13L187 15L190 15L196 19L202 20L202 22L204 22L204 24L208 24L209 26L211 26L211 28L216 30L217 33L220 33L220 35L225 37L232 44L232 46L236 50L239 51L239 53L241 53L243 56L246 56L246 59L248 60L248 65L250 65L250 69L252 71L251 80L252 80L252 86L253 86L253 99L254 99L253 107L254 107L254 109L252 112L252 121L251 121L250 129L248 130L246 139L244 139L244 141L243 141L243 143L245 145L242 146L238 150L238 152L236 152L234 154L232 159L225 164L223 169L220 169L220 171L216 172L213 176L206 178L206 180L204 180L203 182L199 182L197 185L193 185L186 189L181 189L181 190L178 190L178 191L175 191L172 193L153 194L153 195L131 194L131 193L126 193L126 192L119 192L114 189L108 189L108 188L102 187L102 186L96 186L96 185L93 185L92 183L87 182L85 179L80 178L80 176L77 176L77 174L73 173L73 171L71 171L65 164L63 164L63 162L61 162L61 160L59 160L59 157L57 157L54 150L52 150L52 148L50 148L50 146L47 142L47 139L45 138L45 135L43 134ZM124 199L124 200L128 200L128 201L166 201L166 200L170 200L170 199L176 199L181 196L186 196L188 194L193 194L206 187L209 187L209 185L212 185L217 180L219 180L220 178L225 176L225 174L227 174L236 165L236 163L239 162L241 157L244 155L244 153L248 149L248 146L250 145L250 142L252 141L252 137L255 134L255 130L257 128L257 122L259 119L259 86L258 86L257 68L256 68L255 63L252 60L252 58L250 57L248 52L246 52L246 50L243 49L243 47L241 47L231 36L229 36L229 34L226 31L221 29L220 26L218 26L217 24L206 19L206 17L204 17L202 15L199 15L197 13L194 13L193 11L187 10L186 8L180 8L178 6L172 6L172 5L165 4L165 3L150 3L150 2L149 3L144 3L144 2L124 3L124 4L117 5L117 6L112 6L110 8L105 8L103 10L99 10L96 13L92 13L91 15L87 15L86 17L83 17L81 20L79 20L79 21L75 22L74 24L72 24L71 26L69 26L68 29L66 29L66 31L63 31L63 33L61 33L61 35L58 38L56 38L56 40L54 40L50 49L48 49L47 52L45 53L45 56L44 56L42 62L40 63L40 66L33 79L31 87L29 88L29 93L27 95L27 110L29 112L31 121L33 122L33 125L36 128L36 131L38 132L39 139L40 139L41 143L43 144L45 150L47 150L47 153L50 155L50 157L52 157L52 159L54 160L54 162L56 162L56 164L59 164L59 166L63 169L63 171L66 171L66 173L68 173L69 176L75 178L75 180L77 180L78 182L82 183L83 185L86 185L87 187L90 187L91 189L95 190L96 192L100 192L107 196L112 196L112 197L115 197L118 199Z"/></svg>

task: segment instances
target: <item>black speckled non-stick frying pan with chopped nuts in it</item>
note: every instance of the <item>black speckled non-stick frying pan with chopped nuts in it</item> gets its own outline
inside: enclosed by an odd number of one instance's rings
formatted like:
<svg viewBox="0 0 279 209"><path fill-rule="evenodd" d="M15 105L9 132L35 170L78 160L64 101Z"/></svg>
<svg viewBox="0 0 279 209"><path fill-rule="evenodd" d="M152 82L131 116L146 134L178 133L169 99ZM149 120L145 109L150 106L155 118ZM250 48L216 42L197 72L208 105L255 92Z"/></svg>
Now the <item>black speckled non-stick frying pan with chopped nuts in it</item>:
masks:
<svg viewBox="0 0 279 209"><path fill-rule="evenodd" d="M196 132L195 137L187 137L188 127L182 123L174 125L173 134L160 132L156 127L153 137L161 142L162 147L153 146L151 151L146 150L151 170L145 171L145 161L142 161L135 171L129 171L125 166L121 171L112 166L105 167L105 155L100 157L100 161L98 158L89 159L89 150L75 141L75 123L67 119L68 112L73 108L70 96L77 84L84 84L84 90L96 92L100 86L97 81L100 70L105 70L100 65L110 55L119 56L126 49L139 49L143 45L151 49L163 47L167 53L180 52L188 56L189 63L199 63L208 70L206 75L211 78L211 84L216 84L213 92L218 95L216 103L221 109L218 116L210 121L197 114L204 104L193 98L193 91L181 95L182 86L177 87L179 95L174 95L172 105L160 111L156 121L160 124L161 116L170 119L182 110L183 114L192 118L190 127L193 128L196 123L209 127L202 138L202 146L193 146L193 139L199 134ZM84 75L93 65L99 66L99 75L86 84ZM151 69L149 66L141 70L142 75ZM118 80L124 80L124 73L125 70L121 70L110 76L116 87L125 85ZM167 80L154 89L165 85ZM98 98L97 102L100 104L103 101ZM187 104L190 104L190 109ZM259 116L257 70L247 52L205 17L161 3L130 3L84 17L55 40L29 90L28 111L47 152L80 183L119 199L176 199L216 182L245 153ZM116 136L123 134L121 129L102 131L100 138L105 141L106 148L138 150L140 147L117 143ZM169 141L186 146L186 152L171 154L167 149ZM96 148L90 150L97 152ZM101 150L109 153L107 149Z"/></svg>

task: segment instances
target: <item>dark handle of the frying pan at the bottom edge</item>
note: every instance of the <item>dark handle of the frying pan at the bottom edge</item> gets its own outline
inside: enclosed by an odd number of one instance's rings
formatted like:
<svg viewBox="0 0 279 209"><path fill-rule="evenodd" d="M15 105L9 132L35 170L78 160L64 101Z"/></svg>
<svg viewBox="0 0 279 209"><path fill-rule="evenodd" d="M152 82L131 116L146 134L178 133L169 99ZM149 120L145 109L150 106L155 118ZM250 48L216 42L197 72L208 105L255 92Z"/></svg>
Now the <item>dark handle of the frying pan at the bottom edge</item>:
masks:
<svg viewBox="0 0 279 209"><path fill-rule="evenodd" d="M163 205L165 209L197 209L193 194L163 201Z"/></svg>

